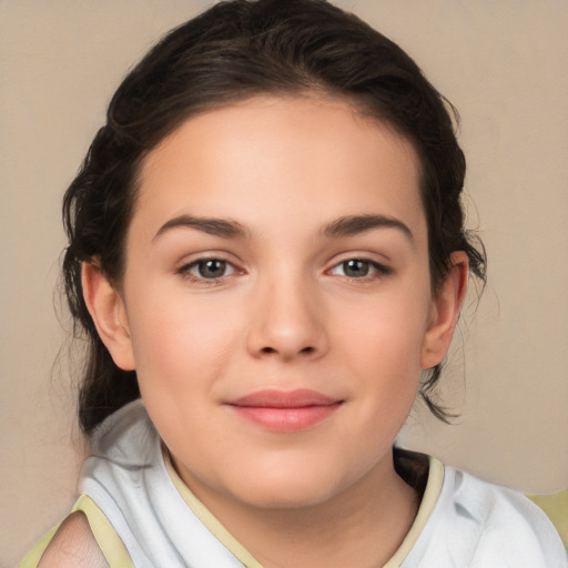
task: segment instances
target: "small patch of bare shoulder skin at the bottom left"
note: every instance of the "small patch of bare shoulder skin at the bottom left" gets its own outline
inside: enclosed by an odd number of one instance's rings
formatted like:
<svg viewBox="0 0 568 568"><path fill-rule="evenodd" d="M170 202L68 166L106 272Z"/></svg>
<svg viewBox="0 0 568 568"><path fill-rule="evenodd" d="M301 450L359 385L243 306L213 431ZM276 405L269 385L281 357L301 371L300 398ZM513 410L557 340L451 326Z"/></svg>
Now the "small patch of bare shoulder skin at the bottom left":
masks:
<svg viewBox="0 0 568 568"><path fill-rule="evenodd" d="M72 513L59 527L38 568L109 568L85 515Z"/></svg>

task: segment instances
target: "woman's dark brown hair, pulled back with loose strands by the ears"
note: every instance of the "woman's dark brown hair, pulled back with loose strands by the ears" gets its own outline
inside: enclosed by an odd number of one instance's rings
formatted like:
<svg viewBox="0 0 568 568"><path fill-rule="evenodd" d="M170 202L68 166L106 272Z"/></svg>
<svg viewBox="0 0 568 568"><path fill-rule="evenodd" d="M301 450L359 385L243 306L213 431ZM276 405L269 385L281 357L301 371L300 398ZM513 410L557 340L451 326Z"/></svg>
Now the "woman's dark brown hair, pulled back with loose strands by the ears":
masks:
<svg viewBox="0 0 568 568"><path fill-rule="evenodd" d="M140 396L135 372L116 367L97 334L81 288L81 263L95 261L120 285L124 240L145 155L189 116L257 94L321 92L392 125L416 149L428 223L433 288L450 254L465 251L485 280L483 245L464 229L460 193L465 159L453 106L395 43L324 0L220 2L171 31L129 73L108 110L82 169L63 202L69 247L63 276L75 325L89 353L80 393L80 423L89 434ZM432 399L440 367L422 396Z"/></svg>

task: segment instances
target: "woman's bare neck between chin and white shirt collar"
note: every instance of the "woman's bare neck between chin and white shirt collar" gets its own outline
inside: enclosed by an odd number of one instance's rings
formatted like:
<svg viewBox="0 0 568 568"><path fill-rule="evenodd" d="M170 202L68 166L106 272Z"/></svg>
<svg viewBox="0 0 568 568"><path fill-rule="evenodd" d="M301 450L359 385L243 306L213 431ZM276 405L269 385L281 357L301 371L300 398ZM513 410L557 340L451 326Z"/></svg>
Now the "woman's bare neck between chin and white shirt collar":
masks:
<svg viewBox="0 0 568 568"><path fill-rule="evenodd" d="M305 507L258 508L189 485L265 568L383 566L402 544L418 507L416 493L396 474L392 455L341 494Z"/></svg>

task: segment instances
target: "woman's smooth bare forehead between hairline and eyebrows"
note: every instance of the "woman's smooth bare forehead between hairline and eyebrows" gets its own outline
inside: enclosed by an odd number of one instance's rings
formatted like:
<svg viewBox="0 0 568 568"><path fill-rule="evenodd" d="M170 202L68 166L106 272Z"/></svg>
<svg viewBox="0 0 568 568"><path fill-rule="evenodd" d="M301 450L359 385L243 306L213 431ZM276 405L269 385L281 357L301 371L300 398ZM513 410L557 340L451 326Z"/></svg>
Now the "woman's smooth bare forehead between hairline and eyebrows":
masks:
<svg viewBox="0 0 568 568"><path fill-rule="evenodd" d="M149 153L139 186L134 219L424 216L412 144L329 98L262 97L192 116Z"/></svg>

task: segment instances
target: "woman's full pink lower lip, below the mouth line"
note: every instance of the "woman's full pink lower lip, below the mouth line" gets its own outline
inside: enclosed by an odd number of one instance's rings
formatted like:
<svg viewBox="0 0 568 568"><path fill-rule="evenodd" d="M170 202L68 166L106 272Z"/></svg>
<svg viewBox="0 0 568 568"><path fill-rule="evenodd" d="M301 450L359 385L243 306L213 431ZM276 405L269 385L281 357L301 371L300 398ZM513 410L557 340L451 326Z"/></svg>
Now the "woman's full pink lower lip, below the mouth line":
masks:
<svg viewBox="0 0 568 568"><path fill-rule="evenodd" d="M297 408L273 408L264 406L232 406L246 420L271 432L301 432L328 418L341 403Z"/></svg>

